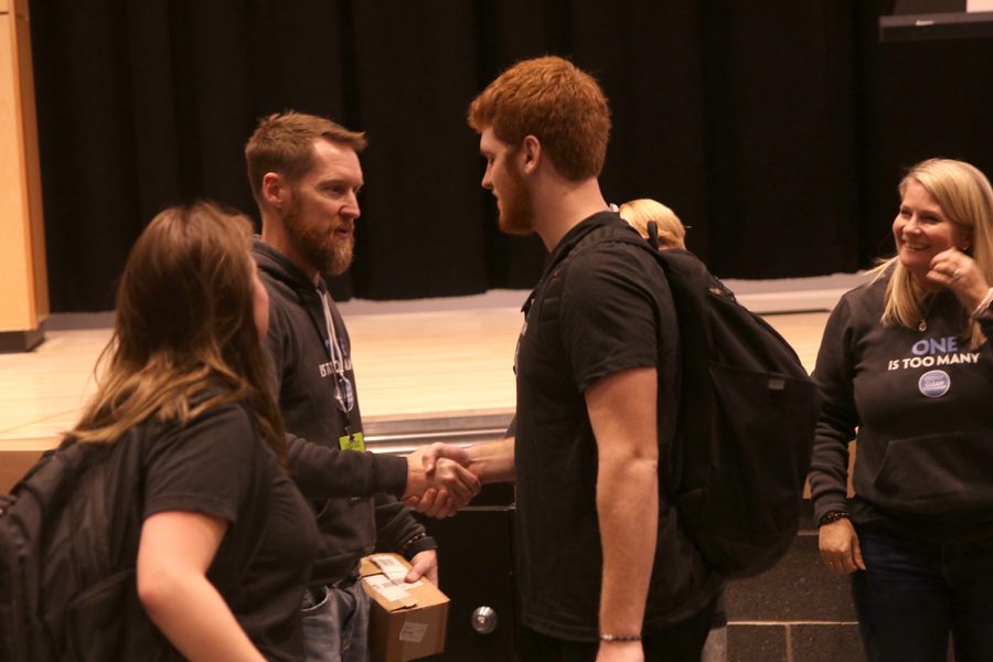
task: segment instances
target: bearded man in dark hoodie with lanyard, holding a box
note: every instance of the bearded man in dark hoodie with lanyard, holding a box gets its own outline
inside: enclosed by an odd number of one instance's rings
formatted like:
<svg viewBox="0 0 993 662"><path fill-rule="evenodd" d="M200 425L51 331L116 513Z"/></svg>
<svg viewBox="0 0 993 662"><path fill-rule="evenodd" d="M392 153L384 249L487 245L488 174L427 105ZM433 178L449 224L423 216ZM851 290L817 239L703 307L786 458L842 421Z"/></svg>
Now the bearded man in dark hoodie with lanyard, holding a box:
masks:
<svg viewBox="0 0 993 662"><path fill-rule="evenodd" d="M438 580L437 545L396 499L428 487L419 455L408 461L365 451L349 333L323 278L352 263L365 145L363 134L288 111L263 119L245 147L261 215L253 252L269 293L266 345L291 433L289 470L321 534L303 596L308 662L366 659L369 601L357 570L374 548L404 554L408 581ZM452 473L461 482L450 487L465 503L479 482L461 467Z"/></svg>

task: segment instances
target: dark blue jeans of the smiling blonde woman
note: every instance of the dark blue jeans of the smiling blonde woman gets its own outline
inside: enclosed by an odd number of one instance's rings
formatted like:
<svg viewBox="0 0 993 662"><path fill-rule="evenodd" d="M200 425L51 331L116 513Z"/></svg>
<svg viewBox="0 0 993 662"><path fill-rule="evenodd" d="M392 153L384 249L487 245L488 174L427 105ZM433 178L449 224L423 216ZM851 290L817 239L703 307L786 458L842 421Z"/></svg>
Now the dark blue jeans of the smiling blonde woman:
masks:
<svg viewBox="0 0 993 662"><path fill-rule="evenodd" d="M993 660L993 538L922 543L858 531L865 570L852 576L871 662Z"/></svg>

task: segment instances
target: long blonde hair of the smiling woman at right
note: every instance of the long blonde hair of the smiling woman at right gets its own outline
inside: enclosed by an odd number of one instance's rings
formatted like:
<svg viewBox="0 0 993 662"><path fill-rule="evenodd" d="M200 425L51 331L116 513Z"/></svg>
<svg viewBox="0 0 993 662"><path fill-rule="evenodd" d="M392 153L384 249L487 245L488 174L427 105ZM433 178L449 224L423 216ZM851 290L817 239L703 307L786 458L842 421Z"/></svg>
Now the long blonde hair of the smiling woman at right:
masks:
<svg viewBox="0 0 993 662"><path fill-rule="evenodd" d="M972 233L972 259L986 282L993 282L993 188L974 166L953 159L928 159L910 168L900 181L900 197L911 183L920 184L952 223ZM920 288L910 271L891 257L874 269L889 274L882 322L885 327L914 328L922 316ZM985 342L976 322L963 328L963 338L973 349Z"/></svg>

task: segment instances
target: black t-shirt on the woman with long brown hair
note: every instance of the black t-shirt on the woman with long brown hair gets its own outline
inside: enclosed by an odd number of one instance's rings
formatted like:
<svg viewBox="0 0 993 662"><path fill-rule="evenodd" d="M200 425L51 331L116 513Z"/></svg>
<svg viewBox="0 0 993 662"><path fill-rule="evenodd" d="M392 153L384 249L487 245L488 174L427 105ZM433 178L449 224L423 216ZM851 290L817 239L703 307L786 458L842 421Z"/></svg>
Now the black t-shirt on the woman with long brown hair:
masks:
<svg viewBox="0 0 993 662"><path fill-rule="evenodd" d="M185 426L146 425L143 515L226 520L209 579L266 658L298 660L300 596L317 549L307 502L239 405L213 407Z"/></svg>

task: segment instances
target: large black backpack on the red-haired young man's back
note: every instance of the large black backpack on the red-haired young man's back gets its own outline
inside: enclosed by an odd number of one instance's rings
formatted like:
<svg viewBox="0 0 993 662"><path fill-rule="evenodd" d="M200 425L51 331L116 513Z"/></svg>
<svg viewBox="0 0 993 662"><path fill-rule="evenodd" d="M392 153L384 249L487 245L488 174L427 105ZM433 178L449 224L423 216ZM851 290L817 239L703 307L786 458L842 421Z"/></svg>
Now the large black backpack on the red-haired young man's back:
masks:
<svg viewBox="0 0 993 662"><path fill-rule="evenodd" d="M789 343L687 250L658 250L629 227L606 225L579 241L553 279L601 242L648 250L672 292L680 408L671 462L660 470L669 472L662 483L682 526L724 577L758 575L797 534L820 414L816 386Z"/></svg>

